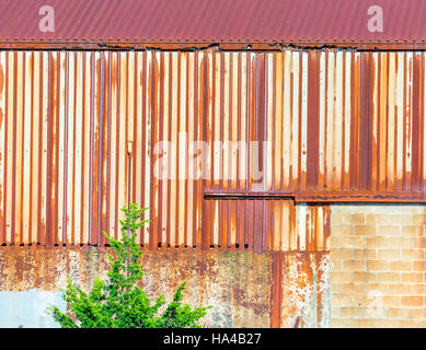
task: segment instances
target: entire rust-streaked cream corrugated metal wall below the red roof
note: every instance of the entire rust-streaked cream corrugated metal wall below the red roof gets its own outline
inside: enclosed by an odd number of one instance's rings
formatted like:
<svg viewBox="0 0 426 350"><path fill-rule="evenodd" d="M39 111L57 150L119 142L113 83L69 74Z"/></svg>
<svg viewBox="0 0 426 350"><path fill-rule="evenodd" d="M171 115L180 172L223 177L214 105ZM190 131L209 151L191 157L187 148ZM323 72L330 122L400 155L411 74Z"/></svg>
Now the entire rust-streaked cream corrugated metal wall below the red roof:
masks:
<svg viewBox="0 0 426 350"><path fill-rule="evenodd" d="M1 51L0 244L103 245L136 201L146 247L327 249L304 202L425 200L424 74L413 51Z"/></svg>

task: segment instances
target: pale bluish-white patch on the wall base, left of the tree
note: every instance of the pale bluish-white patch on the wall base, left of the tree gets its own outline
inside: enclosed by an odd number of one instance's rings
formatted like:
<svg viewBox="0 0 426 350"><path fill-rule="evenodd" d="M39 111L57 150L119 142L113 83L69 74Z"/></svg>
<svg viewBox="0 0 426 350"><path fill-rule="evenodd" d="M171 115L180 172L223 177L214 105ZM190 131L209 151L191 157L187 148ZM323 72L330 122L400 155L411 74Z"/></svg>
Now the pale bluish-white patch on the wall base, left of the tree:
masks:
<svg viewBox="0 0 426 350"><path fill-rule="evenodd" d="M0 292L0 328L58 328L45 313L54 304L66 310L60 292L31 289L22 292Z"/></svg>

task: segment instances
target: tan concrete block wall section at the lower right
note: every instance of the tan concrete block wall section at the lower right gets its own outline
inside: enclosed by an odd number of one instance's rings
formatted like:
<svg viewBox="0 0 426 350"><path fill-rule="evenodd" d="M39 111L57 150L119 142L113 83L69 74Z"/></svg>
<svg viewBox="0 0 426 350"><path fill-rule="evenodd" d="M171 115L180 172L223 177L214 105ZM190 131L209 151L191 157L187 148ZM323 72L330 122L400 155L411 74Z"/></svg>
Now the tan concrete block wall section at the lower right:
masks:
<svg viewBox="0 0 426 350"><path fill-rule="evenodd" d="M422 205L332 206L332 327L426 327L425 229Z"/></svg>

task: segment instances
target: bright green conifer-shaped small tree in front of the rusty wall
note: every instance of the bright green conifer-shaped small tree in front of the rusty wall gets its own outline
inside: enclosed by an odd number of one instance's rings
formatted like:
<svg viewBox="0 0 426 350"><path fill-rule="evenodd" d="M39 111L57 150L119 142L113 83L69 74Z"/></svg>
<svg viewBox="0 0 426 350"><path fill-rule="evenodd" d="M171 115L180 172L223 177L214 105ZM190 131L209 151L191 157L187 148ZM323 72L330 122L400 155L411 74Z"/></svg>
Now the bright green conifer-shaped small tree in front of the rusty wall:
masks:
<svg viewBox="0 0 426 350"><path fill-rule="evenodd" d="M114 255L108 255L112 266L107 280L95 279L89 293L73 285L68 279L64 292L67 302L67 314L56 306L50 306L48 313L62 328L199 328L197 322L206 315L208 307L193 310L182 305L182 283L173 296L173 301L162 314L160 308L165 304L164 295L153 303L137 282L142 278L143 270L139 264L141 249L136 243L136 235L148 220L140 217L148 208L138 209L136 203L123 208L125 220L120 220L122 240L105 236L110 240Z"/></svg>

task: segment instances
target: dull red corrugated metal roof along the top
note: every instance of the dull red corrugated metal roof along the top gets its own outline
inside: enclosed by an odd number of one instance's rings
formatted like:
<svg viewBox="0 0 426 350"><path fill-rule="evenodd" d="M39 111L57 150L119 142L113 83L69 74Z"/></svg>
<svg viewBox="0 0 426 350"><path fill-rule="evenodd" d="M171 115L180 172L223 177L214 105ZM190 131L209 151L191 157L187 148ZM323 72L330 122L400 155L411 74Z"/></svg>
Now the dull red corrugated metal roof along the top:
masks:
<svg viewBox="0 0 426 350"><path fill-rule="evenodd" d="M38 30L42 5L55 32ZM368 9L383 9L383 32ZM424 43L424 0L3 0L4 43Z"/></svg>

